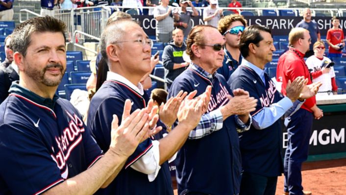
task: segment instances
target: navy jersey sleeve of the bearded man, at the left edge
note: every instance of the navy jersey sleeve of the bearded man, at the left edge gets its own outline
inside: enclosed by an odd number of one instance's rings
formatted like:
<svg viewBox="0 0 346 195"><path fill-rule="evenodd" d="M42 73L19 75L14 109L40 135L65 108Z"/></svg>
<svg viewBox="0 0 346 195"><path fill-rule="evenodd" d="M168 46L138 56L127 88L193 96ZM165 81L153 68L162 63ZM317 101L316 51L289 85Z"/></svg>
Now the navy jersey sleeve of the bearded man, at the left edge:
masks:
<svg viewBox="0 0 346 195"><path fill-rule="evenodd" d="M43 139L22 124L0 126L0 175L11 194L41 194L64 181Z"/></svg>

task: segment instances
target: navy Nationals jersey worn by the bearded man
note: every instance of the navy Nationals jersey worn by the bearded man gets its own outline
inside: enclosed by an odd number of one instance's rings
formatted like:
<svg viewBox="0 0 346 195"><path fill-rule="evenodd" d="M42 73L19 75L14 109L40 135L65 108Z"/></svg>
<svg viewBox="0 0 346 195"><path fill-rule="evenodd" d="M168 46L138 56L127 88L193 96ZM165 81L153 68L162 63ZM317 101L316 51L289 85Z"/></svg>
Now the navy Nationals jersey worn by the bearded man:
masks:
<svg viewBox="0 0 346 195"><path fill-rule="evenodd" d="M0 194L41 194L91 167L102 151L66 99L17 83L0 105Z"/></svg>

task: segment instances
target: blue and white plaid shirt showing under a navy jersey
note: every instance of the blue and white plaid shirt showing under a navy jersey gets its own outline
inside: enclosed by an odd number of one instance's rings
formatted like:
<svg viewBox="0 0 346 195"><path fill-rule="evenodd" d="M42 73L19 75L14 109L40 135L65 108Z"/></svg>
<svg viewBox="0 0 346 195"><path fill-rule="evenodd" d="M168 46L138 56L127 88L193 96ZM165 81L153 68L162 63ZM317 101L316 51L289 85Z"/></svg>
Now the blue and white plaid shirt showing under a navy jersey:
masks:
<svg viewBox="0 0 346 195"><path fill-rule="evenodd" d="M216 72L213 74L207 73L206 71L204 71L202 68L200 68L199 66L197 66L196 64L191 63L189 68L191 68L192 70L194 70L195 72L201 74L202 76L210 79L210 81L213 83L213 79L216 76ZM238 132L243 132L243 131L247 131L250 128L251 122L252 122L252 118L251 116L249 116L249 120L247 122L247 124L245 124L244 122L242 122L238 115L235 115L235 121L237 124L237 131ZM206 135L211 134L214 131L220 130L222 128L223 125L223 118L222 118L222 113L220 108L217 108L211 112L205 113L202 115L197 127L192 130L189 134L189 139L200 139Z"/></svg>

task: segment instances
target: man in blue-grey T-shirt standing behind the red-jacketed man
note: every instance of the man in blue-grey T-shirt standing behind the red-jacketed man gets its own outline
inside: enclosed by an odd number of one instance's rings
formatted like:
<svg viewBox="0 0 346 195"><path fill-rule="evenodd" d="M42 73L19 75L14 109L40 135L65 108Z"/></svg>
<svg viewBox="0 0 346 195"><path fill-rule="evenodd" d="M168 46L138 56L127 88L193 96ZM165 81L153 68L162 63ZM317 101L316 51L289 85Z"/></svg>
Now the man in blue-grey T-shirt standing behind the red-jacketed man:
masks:
<svg viewBox="0 0 346 195"><path fill-rule="evenodd" d="M309 31L311 42L315 43L316 41L321 40L321 33L319 29L319 25L311 20L311 10L309 8L305 8L303 12L303 20L300 21L296 27L302 27ZM310 46L310 49L305 52L305 57L310 57L314 55L314 49L312 45Z"/></svg>

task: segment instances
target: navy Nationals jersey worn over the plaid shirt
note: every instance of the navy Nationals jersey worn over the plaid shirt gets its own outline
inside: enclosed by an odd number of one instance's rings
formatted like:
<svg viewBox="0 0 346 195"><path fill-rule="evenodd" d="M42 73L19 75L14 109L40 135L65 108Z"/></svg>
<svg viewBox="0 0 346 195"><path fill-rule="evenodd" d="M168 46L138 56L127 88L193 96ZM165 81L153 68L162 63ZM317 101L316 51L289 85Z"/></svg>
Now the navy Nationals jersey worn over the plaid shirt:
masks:
<svg viewBox="0 0 346 195"><path fill-rule="evenodd" d="M195 64L173 81L169 97L180 90L197 90L198 96L209 85L212 86L212 94L207 112L211 112L228 102L225 95L233 94L221 74L208 74ZM184 191L212 195L239 194L241 156L234 115L223 121L220 130L200 139L188 139L178 151L175 165L179 194Z"/></svg>

